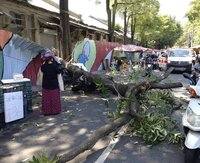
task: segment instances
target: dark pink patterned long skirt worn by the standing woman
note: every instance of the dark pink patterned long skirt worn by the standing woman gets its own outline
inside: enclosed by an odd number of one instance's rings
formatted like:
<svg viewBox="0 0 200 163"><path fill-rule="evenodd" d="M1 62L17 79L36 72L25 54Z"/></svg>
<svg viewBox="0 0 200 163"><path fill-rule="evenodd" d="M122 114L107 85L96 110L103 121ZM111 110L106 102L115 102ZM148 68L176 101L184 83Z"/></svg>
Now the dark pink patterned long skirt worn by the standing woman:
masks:
<svg viewBox="0 0 200 163"><path fill-rule="evenodd" d="M42 114L54 115L61 112L59 89L42 89Z"/></svg>

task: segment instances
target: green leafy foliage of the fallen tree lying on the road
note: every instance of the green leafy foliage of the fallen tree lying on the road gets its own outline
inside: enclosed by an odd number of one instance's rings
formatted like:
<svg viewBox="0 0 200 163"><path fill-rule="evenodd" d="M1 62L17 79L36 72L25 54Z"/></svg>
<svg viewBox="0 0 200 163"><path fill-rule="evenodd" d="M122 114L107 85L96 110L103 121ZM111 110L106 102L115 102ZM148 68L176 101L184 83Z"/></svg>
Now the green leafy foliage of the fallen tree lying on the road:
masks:
<svg viewBox="0 0 200 163"><path fill-rule="evenodd" d="M131 136L141 137L145 143L155 145L163 141L169 143L182 143L184 136L179 131L178 124L171 118L171 113L176 105L176 99L170 90L150 90L140 95L140 119L134 118L128 130ZM130 104L131 100L116 101L117 109L109 113L113 119L119 118Z"/></svg>

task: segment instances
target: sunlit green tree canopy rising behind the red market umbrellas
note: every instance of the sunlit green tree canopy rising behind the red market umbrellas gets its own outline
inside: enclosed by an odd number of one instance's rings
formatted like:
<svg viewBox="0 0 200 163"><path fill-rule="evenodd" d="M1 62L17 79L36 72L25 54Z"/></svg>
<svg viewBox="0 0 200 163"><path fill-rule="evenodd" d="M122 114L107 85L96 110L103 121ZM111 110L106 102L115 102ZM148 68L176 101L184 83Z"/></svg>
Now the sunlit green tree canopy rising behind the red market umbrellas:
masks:
<svg viewBox="0 0 200 163"><path fill-rule="evenodd" d="M99 1L98 1L99 2ZM182 34L179 22L170 16L160 16L158 0L106 0L109 41L112 41L116 15L124 19L124 44L137 44L149 48L172 47ZM122 14L123 13L123 14ZM127 33L131 34L126 41Z"/></svg>

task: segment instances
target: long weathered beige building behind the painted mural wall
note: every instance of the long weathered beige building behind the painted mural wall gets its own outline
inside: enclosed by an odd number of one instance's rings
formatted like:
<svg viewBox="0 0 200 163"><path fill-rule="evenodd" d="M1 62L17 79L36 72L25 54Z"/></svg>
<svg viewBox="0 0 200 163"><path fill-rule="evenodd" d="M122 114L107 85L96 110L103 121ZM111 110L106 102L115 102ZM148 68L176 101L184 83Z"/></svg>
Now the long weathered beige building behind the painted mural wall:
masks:
<svg viewBox="0 0 200 163"><path fill-rule="evenodd" d="M62 27L58 12L34 6L22 0L1 0L0 29L11 31L46 48L56 48L61 54ZM81 15L69 12L70 34L73 47L85 38L98 41L108 40L107 24L90 17L94 25L85 24ZM96 22L96 23L95 23ZM99 26L104 26L100 28ZM114 40L122 43L122 35L115 34Z"/></svg>

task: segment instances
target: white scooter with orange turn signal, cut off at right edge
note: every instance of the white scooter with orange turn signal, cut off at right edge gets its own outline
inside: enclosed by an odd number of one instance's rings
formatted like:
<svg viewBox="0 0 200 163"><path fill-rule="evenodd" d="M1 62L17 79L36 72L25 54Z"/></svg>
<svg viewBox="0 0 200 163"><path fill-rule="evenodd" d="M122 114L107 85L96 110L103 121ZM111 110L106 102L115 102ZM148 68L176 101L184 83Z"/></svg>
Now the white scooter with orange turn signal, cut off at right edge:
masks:
<svg viewBox="0 0 200 163"><path fill-rule="evenodd" d="M200 162L200 80L195 84L194 78L189 78L191 84L188 91L191 95L191 100L186 108L182 118L183 129L185 133L184 152L185 163Z"/></svg>

